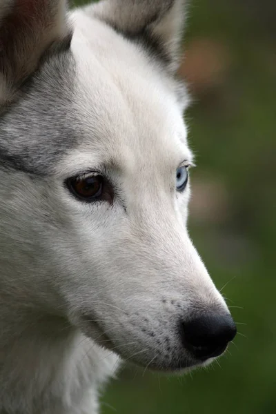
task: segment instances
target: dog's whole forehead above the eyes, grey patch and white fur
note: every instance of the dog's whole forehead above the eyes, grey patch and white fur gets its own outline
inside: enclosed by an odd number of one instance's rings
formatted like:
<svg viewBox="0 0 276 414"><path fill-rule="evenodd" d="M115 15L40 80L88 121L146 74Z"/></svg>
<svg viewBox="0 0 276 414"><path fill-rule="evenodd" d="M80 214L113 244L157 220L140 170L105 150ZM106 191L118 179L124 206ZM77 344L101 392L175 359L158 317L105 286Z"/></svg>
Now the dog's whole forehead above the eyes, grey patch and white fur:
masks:
<svg viewBox="0 0 276 414"><path fill-rule="evenodd" d="M52 57L26 99L2 117L2 165L69 174L108 159L173 165L179 153L190 156L174 83L97 24L90 37L76 28L70 51Z"/></svg>

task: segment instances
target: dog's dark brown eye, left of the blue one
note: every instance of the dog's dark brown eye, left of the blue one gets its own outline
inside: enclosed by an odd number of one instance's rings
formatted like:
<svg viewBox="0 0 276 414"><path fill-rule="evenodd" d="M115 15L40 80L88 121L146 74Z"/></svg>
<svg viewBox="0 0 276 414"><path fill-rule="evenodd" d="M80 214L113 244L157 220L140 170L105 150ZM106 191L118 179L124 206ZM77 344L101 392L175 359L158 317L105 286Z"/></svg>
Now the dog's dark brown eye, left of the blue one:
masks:
<svg viewBox="0 0 276 414"><path fill-rule="evenodd" d="M83 201L95 201L101 197L103 177L92 175L88 177L73 177L66 181L70 192Z"/></svg>

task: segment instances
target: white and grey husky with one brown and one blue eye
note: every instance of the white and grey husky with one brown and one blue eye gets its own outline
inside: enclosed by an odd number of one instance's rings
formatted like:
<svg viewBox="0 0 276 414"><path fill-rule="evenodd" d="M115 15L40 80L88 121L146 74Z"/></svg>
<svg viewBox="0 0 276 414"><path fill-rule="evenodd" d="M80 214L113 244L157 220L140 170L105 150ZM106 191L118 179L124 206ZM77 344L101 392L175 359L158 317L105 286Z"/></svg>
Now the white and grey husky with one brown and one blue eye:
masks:
<svg viewBox="0 0 276 414"><path fill-rule="evenodd" d="M236 333L187 230L182 0L0 3L0 413L96 414L123 361Z"/></svg>

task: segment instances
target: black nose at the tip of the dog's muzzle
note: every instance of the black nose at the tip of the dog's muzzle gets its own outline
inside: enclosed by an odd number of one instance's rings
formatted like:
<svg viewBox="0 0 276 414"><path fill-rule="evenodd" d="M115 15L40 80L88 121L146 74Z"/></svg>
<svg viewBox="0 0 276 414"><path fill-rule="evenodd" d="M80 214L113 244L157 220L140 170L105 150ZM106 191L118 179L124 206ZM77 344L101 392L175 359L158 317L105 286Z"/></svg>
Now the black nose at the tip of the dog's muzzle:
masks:
<svg viewBox="0 0 276 414"><path fill-rule="evenodd" d="M182 325L184 345L202 361L221 355L237 328L230 315L208 314Z"/></svg>

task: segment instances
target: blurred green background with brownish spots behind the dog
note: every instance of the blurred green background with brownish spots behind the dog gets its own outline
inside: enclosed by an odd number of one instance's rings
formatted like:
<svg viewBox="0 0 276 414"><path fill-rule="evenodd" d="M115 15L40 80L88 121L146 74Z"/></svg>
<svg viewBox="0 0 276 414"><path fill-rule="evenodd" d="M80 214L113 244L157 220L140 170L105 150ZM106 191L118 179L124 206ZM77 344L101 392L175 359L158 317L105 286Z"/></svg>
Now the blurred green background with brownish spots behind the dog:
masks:
<svg viewBox="0 0 276 414"><path fill-rule="evenodd" d="M127 368L103 393L104 414L276 413L276 1L189 3L179 74L194 98L190 233L239 335L192 375Z"/></svg>

